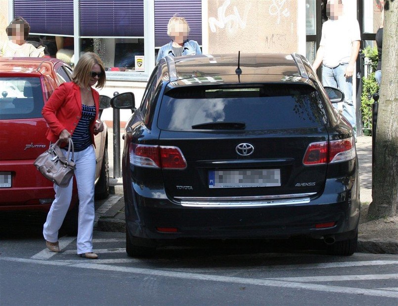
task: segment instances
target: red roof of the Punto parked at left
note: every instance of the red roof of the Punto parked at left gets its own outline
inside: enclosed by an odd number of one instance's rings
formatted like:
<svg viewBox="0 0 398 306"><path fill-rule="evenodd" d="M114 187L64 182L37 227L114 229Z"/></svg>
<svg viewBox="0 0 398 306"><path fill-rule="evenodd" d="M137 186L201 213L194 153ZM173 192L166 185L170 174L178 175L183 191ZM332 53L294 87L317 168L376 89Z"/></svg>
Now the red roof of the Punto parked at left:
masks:
<svg viewBox="0 0 398 306"><path fill-rule="evenodd" d="M0 57L0 73L48 75L54 65L62 60L52 57Z"/></svg>

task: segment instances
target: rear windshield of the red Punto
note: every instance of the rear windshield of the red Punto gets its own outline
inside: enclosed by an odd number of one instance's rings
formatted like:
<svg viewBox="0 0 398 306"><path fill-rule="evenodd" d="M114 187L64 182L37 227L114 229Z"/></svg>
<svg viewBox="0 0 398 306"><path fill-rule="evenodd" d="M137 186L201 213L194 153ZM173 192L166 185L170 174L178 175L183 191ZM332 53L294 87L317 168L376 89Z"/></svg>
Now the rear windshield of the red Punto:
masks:
<svg viewBox="0 0 398 306"><path fill-rule="evenodd" d="M0 93L0 119L42 117L40 78L1 77Z"/></svg>

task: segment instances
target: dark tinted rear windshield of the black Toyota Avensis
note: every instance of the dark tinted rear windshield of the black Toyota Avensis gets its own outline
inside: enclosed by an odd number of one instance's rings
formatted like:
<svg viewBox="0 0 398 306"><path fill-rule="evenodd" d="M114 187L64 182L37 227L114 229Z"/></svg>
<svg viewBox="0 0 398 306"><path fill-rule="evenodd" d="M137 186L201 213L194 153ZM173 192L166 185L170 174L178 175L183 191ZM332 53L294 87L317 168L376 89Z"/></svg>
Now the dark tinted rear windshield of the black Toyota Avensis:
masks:
<svg viewBox="0 0 398 306"><path fill-rule="evenodd" d="M169 131L296 129L326 123L319 94L309 85L177 88L161 103L158 127Z"/></svg>

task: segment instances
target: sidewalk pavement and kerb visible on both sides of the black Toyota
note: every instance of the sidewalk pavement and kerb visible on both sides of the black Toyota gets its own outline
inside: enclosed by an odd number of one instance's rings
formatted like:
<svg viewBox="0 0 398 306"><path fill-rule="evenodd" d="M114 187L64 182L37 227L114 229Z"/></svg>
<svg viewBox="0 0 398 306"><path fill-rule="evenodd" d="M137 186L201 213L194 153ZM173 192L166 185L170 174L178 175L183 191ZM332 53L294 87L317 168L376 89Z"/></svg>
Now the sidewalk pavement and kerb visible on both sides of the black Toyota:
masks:
<svg viewBox="0 0 398 306"><path fill-rule="evenodd" d="M121 129L121 156L123 152ZM109 158L109 176L111 195L106 205L105 211L100 212L97 230L106 232L125 232L125 202L123 198L123 180L122 178L113 178L113 129L108 128L108 158ZM360 179L360 200L362 208L367 209L367 205L372 202L372 137L357 137L356 152L359 161L359 179ZM104 210L104 209L102 209ZM367 210L366 210L367 211ZM96 211L98 214L98 211ZM394 237L380 239L380 233L372 231L372 236L367 233L366 238L361 237L361 229L367 225L366 220L359 222L358 249L357 252L379 253L379 254L398 254L398 241Z"/></svg>

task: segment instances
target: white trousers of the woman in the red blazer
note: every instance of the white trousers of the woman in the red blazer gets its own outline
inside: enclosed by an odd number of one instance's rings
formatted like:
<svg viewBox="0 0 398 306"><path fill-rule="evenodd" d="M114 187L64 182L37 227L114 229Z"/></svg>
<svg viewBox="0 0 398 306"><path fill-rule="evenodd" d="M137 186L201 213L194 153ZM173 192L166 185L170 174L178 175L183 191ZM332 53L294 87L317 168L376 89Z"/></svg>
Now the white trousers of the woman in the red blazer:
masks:
<svg viewBox="0 0 398 306"><path fill-rule="evenodd" d="M79 194L79 219L77 254L92 252L92 231L94 227L94 180L95 152L94 147L75 152L75 177ZM60 229L72 200L73 180L68 187L54 184L55 200L44 223L43 236L49 242L58 241Z"/></svg>

